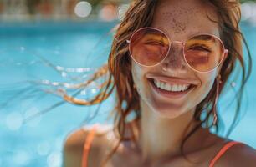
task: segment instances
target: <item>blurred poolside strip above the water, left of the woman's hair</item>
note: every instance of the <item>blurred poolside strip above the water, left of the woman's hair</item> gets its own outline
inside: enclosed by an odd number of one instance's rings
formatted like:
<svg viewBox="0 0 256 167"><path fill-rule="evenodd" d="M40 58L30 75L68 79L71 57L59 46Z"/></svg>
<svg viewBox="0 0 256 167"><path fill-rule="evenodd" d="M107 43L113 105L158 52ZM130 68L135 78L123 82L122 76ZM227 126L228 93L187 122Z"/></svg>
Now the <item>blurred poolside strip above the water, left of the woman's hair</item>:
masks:
<svg viewBox="0 0 256 167"><path fill-rule="evenodd" d="M118 9L125 0L1 0L1 20L102 20L118 19Z"/></svg>

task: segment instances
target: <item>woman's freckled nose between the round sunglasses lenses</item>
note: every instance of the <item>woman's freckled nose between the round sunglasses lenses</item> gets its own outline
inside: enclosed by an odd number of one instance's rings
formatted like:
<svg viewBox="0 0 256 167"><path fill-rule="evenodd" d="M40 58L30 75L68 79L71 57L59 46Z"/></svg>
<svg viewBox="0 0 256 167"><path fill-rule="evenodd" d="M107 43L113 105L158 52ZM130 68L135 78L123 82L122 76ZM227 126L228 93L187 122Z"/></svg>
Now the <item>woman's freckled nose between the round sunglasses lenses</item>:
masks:
<svg viewBox="0 0 256 167"><path fill-rule="evenodd" d="M179 71L185 73L187 70L187 63L183 56L184 43L173 41L170 51L161 66L165 71L175 72Z"/></svg>

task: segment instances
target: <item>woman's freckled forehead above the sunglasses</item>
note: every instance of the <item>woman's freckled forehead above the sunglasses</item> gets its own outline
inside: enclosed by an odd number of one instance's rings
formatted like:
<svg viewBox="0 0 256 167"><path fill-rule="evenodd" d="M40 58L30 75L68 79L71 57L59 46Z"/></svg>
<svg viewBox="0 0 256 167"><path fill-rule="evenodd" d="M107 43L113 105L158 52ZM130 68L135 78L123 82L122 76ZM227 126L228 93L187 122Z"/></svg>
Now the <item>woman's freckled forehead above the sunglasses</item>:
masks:
<svg viewBox="0 0 256 167"><path fill-rule="evenodd" d="M160 0L151 27L160 28L172 37L188 38L197 33L219 37L218 16L212 5L202 0ZM212 19L212 20L211 20Z"/></svg>

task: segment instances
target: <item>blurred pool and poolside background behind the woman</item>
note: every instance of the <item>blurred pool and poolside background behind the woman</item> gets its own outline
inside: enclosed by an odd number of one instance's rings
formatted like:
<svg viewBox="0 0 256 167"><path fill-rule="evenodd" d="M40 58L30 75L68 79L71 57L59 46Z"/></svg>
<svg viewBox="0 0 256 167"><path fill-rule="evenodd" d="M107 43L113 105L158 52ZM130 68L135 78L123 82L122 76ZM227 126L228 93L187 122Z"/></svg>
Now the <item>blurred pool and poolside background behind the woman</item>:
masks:
<svg viewBox="0 0 256 167"><path fill-rule="evenodd" d="M100 80L86 89L74 88L106 63L112 29L128 3L0 0L0 166L59 167L64 139L72 130L83 124L111 124L105 119L114 97L101 105L76 106L64 103L58 90L81 99L97 93ZM230 138L256 148L256 3L241 3L241 28L252 53L253 73L245 88L241 121ZM220 97L218 107L225 123L220 135L227 133L234 117L236 80L233 74Z"/></svg>

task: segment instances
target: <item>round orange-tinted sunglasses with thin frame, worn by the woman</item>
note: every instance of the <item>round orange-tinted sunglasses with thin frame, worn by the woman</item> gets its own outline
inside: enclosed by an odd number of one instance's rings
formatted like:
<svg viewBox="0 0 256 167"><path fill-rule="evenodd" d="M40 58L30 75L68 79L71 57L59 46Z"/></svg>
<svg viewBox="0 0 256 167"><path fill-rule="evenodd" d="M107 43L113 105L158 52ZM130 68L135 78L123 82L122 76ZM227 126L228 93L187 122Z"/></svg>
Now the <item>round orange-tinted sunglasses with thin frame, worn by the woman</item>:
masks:
<svg viewBox="0 0 256 167"><path fill-rule="evenodd" d="M208 33L200 33L186 42L172 41L158 28L140 28L131 35L129 52L131 58L141 66L153 67L167 57L172 43L182 43L183 57L187 65L199 73L207 73L222 63L228 49L220 38Z"/></svg>

